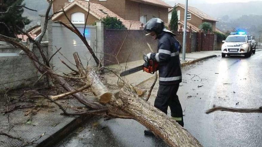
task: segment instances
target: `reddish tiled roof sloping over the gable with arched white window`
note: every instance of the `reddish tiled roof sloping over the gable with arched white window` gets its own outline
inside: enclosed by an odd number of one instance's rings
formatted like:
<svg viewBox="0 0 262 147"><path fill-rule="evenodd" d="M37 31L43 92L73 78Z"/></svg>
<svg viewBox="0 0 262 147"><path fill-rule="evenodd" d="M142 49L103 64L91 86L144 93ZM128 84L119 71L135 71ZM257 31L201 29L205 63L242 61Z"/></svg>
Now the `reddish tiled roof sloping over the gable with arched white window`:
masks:
<svg viewBox="0 0 262 147"><path fill-rule="evenodd" d="M157 0L157 1L160 1L160 0ZM84 9L85 11L88 12L88 1L85 1L85 0L74 0L71 3L69 3L68 5L66 5L64 7L64 10L68 11L72 7L74 7L75 5L81 7L82 9ZM115 14L114 12L110 11L109 9L104 7L103 5L96 3L96 2L90 2L89 13L91 15L93 15L94 17L96 17L97 19L102 19L102 18L106 17L107 15L109 15L110 17L116 17L119 20L121 20L123 22L124 26L126 26L128 29L130 27L130 24L132 24L130 29L133 29L133 30L139 30L140 27L141 27L140 21L124 20L123 18L121 18L120 16ZM63 12L57 13L56 15L53 16L52 20L55 20L56 18L58 18L61 15L63 15Z"/></svg>

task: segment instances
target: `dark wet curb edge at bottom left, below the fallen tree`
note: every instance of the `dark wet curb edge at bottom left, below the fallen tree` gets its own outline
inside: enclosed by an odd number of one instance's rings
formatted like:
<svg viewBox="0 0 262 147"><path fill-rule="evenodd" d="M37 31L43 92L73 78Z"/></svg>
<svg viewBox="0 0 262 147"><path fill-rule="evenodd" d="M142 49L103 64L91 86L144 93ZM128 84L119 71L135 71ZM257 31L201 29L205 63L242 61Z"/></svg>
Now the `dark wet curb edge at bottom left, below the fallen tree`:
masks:
<svg viewBox="0 0 262 147"><path fill-rule="evenodd" d="M90 118L91 116L77 116L72 117L58 124L54 129L46 132L40 139L33 143L32 147L50 147L54 146L66 136L68 136L72 131L77 129L83 122Z"/></svg>

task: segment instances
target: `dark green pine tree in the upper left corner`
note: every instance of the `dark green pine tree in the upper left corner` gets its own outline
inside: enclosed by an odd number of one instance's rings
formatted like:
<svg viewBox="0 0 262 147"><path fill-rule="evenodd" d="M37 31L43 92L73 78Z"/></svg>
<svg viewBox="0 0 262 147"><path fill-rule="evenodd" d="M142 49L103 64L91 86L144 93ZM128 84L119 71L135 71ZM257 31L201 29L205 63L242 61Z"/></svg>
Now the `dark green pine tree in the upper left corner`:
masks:
<svg viewBox="0 0 262 147"><path fill-rule="evenodd" d="M27 17L23 17L24 0L0 0L0 34L16 38L23 29L30 23Z"/></svg>

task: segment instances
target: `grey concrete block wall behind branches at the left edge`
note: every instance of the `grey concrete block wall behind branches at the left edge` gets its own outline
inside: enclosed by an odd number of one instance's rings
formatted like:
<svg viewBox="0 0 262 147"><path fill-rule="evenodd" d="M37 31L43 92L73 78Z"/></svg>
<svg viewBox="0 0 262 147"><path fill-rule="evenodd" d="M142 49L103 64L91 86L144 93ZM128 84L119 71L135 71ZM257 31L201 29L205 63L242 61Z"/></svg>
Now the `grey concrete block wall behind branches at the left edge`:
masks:
<svg viewBox="0 0 262 147"><path fill-rule="evenodd" d="M52 50L48 50L48 43L42 46L45 53L52 54ZM36 47L33 51L40 58ZM0 92L29 86L37 81L36 68L31 60L20 52L21 49L10 45L0 46Z"/></svg>

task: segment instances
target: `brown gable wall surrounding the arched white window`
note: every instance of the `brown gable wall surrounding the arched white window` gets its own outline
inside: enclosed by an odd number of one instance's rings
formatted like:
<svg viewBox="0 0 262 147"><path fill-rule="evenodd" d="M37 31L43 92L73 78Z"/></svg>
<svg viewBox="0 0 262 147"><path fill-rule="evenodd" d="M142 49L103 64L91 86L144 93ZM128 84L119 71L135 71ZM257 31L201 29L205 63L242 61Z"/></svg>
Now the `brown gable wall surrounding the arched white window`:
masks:
<svg viewBox="0 0 262 147"><path fill-rule="evenodd" d="M75 5L75 6L72 7L70 10L68 10L68 11L66 12L66 15L67 15L67 16L70 18L70 20L71 20L71 15L72 15L73 13L75 13L75 12L84 13L84 14L85 14L85 19L86 19L86 17L87 17L87 12L86 12L84 9L82 9L81 7L77 6L77 5ZM59 17L56 18L54 21L56 21L56 20L60 20L60 21L63 21L63 22L65 22L65 23L69 23L65 15L59 16ZM88 25L92 25L93 23L95 23L95 21L98 21L98 20L99 20L98 18L96 18L96 17L94 17L93 15L89 14L89 15L88 15L88 19L87 19L87 24L88 24Z"/></svg>

